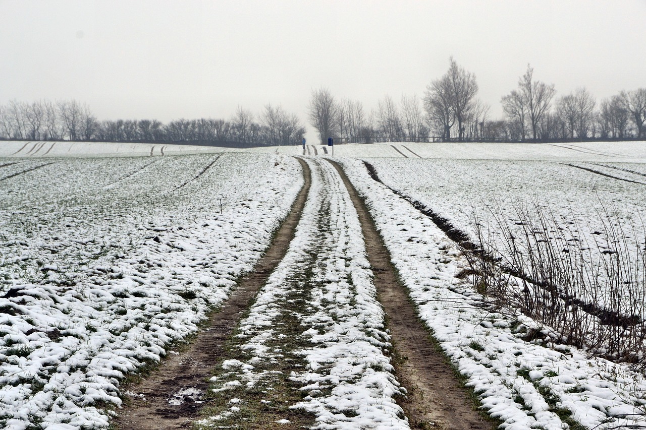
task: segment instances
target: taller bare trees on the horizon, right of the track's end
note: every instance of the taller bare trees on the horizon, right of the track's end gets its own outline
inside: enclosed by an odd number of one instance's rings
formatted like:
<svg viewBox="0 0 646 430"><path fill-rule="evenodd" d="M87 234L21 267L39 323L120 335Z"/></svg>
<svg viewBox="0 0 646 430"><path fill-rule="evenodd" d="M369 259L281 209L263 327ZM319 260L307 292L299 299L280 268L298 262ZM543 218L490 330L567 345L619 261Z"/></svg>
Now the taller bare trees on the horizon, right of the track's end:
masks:
<svg viewBox="0 0 646 430"><path fill-rule="evenodd" d="M323 143L373 141L548 141L646 138L646 88L621 91L597 103L585 88L556 97L554 84L527 70L517 88L501 97L505 118L490 119L477 98L475 74L453 57L447 72L433 79L423 97L390 96L370 113L360 101L337 101L327 88L313 90L309 120Z"/></svg>

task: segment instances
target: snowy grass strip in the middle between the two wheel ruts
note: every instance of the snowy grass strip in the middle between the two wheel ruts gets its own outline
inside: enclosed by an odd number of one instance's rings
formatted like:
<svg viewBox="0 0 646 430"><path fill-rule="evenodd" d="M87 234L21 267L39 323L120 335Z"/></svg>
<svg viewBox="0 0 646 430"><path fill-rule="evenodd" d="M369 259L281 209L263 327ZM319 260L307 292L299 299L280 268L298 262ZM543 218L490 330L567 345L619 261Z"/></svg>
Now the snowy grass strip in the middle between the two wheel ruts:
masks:
<svg viewBox="0 0 646 430"><path fill-rule="evenodd" d="M216 371L204 428L408 428L357 213L331 165L307 162L295 237Z"/></svg>

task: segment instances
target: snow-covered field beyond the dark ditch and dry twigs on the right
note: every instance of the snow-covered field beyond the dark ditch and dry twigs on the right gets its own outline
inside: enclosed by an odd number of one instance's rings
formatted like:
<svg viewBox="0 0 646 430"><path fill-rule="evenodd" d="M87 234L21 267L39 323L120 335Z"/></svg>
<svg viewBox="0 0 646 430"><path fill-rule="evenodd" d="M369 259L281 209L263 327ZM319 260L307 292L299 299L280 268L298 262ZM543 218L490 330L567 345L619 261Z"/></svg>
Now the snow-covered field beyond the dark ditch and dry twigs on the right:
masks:
<svg viewBox="0 0 646 430"><path fill-rule="evenodd" d="M539 209L549 215L548 227L553 227L541 230L540 234L552 240L563 237L557 251L585 249L582 256L586 268L594 271L597 261L622 248L627 256L626 265L641 280L639 273L643 272L646 246L644 163L385 158L367 161L391 189L450 220L470 234L473 241L477 241L480 229L483 238L505 254L507 260L512 259L506 249L509 233L523 238L528 221L540 224L536 214ZM612 234L612 229L618 234ZM533 227L532 230L537 231ZM618 236L627 240L616 243ZM607 274L596 276L600 287L590 289L585 293L588 297L579 299L606 307L610 300L610 291L605 288ZM629 293L634 295L630 289L623 292ZM580 294L584 292L579 291ZM646 312L643 306L632 308L635 312Z"/></svg>

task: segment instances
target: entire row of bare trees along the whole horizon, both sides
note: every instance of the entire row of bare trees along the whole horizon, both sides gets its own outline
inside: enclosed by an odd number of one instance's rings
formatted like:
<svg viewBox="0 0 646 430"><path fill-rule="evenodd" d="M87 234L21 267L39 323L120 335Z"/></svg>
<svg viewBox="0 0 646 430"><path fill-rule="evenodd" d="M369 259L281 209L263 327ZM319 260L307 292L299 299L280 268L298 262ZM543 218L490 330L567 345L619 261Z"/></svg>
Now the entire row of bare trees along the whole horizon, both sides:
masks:
<svg viewBox="0 0 646 430"><path fill-rule="evenodd" d="M361 101L313 90L309 121L321 143L376 141L549 141L646 139L646 88L621 91L599 103L585 88L556 96L554 84L528 65L517 87L501 97L503 119L489 118L475 74L449 59L422 97L384 96L366 111ZM0 139L175 142L231 146L300 145L306 132L296 114L268 104L254 115L238 107L230 119L99 121L78 101L9 101L0 105Z"/></svg>

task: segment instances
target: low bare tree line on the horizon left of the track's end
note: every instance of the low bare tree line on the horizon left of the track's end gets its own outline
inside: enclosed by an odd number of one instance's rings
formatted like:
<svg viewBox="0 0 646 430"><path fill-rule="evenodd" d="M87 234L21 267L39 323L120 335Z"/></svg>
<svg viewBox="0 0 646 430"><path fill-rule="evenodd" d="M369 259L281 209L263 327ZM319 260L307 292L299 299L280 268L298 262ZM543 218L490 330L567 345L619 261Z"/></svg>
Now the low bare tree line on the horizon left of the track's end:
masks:
<svg viewBox="0 0 646 430"><path fill-rule="evenodd" d="M300 145L305 127L296 114L268 104L258 116L238 107L231 119L99 121L78 101L9 101L0 105L0 138L231 146Z"/></svg>

